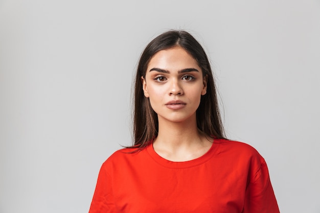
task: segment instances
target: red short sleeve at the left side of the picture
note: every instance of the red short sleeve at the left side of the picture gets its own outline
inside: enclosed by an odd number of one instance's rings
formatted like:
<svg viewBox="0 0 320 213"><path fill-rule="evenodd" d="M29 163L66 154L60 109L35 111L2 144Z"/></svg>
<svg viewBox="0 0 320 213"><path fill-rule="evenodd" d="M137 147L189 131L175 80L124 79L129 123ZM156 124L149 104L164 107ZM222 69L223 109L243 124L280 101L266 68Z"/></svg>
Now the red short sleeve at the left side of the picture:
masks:
<svg viewBox="0 0 320 213"><path fill-rule="evenodd" d="M112 195L112 181L110 175L106 171L105 163L102 164L98 175L96 190L90 205L89 213L117 212Z"/></svg>

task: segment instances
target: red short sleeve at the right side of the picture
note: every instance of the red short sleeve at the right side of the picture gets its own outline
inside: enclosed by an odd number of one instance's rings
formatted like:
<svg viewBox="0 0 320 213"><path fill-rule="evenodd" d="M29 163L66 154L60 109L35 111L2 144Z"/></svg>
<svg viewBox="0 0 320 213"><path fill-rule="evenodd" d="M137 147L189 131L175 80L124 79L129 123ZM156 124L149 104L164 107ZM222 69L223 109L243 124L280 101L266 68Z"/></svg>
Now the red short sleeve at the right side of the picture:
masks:
<svg viewBox="0 0 320 213"><path fill-rule="evenodd" d="M265 161L248 183L243 213L279 213Z"/></svg>

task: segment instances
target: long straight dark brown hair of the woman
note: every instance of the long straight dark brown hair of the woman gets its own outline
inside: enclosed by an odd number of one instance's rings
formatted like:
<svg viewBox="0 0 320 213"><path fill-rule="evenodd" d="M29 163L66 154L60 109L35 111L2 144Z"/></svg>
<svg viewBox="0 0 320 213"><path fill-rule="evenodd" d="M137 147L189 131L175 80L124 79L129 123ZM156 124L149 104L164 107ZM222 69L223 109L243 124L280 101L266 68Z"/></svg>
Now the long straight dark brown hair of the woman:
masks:
<svg viewBox="0 0 320 213"><path fill-rule="evenodd" d="M145 148L158 134L158 117L151 108L149 99L144 96L141 77L146 77L148 63L154 54L174 46L180 46L190 53L198 62L203 77L208 76L207 93L201 96L200 105L196 111L197 127L214 138L225 138L216 86L207 54L190 33L171 30L154 38L146 46L139 60L133 94L133 147Z"/></svg>

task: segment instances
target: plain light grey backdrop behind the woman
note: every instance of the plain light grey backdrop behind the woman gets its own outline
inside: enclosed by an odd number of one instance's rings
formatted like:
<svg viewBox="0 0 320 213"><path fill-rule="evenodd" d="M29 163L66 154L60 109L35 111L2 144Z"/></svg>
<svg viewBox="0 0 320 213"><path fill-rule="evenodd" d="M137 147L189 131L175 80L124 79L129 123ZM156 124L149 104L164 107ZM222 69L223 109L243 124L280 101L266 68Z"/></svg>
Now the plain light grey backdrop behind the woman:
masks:
<svg viewBox="0 0 320 213"><path fill-rule="evenodd" d="M227 136L266 159L282 213L320 212L320 1L0 1L0 212L87 212L131 145L145 45L192 33Z"/></svg>

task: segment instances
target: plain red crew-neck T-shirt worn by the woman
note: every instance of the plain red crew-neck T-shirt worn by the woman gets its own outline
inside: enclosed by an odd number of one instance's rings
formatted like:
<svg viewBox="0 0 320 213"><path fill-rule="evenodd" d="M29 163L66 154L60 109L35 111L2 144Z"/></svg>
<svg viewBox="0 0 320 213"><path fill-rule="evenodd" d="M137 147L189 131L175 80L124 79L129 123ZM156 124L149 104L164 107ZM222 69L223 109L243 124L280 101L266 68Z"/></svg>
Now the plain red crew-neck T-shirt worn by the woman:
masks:
<svg viewBox="0 0 320 213"><path fill-rule="evenodd" d="M102 165L89 213L278 213L267 165L247 144L215 139L203 156L172 162L152 145Z"/></svg>

